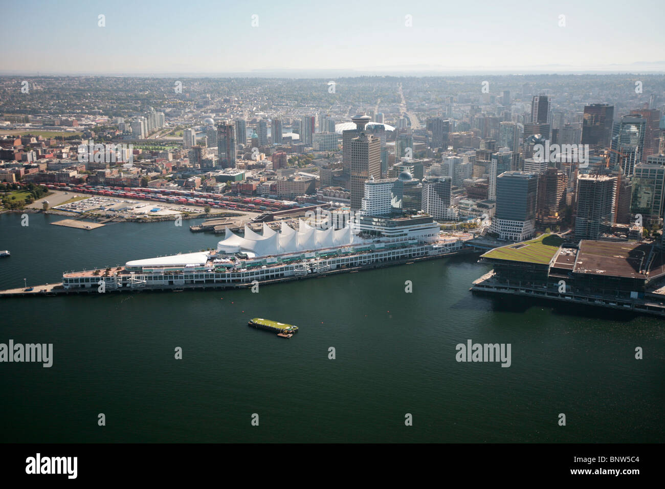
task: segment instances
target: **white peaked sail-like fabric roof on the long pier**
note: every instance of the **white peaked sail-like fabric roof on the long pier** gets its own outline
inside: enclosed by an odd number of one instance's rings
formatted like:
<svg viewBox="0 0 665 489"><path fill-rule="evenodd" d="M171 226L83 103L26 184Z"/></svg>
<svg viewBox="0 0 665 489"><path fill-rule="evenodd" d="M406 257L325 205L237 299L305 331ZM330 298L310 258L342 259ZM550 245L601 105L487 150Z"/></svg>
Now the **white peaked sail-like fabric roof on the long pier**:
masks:
<svg viewBox="0 0 665 489"><path fill-rule="evenodd" d="M221 253L253 253L255 257L297 253L298 251L315 251L317 249L368 242L347 227L340 230L329 228L319 230L312 228L304 220L299 221L299 230L282 223L281 230L275 232L263 224L263 235L253 232L245 225L245 236L238 236L226 228L224 239L217 244Z"/></svg>

